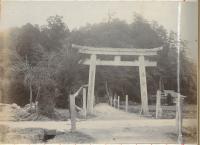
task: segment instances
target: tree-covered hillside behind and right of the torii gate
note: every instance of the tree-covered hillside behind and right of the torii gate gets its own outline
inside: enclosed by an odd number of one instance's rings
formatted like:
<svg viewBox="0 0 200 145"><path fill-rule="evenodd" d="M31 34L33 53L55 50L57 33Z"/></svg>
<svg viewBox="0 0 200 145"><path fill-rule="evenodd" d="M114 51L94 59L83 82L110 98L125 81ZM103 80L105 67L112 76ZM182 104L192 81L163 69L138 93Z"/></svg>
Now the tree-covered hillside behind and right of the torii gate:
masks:
<svg viewBox="0 0 200 145"><path fill-rule="evenodd" d="M150 23L136 14L131 24L112 19L109 23L102 22L81 27L79 30L72 31L71 36L73 43L88 46L141 49L162 46L163 50L159 52L157 57L147 57L149 60L158 62L157 67L146 69L148 94L156 94L160 79L163 80L164 89L177 91L176 34L174 32L168 33L157 22ZM179 64L181 68L181 93L188 96L188 102L194 103L196 102L196 79L194 78L196 70L191 71L195 67L186 57L185 49L187 49L187 45L181 41L181 63ZM113 93L123 96L128 94L131 99L140 101L138 68L97 67L96 78L96 91L99 90L101 95L105 94L105 82L107 81ZM190 85L187 84L185 78L190 80Z"/></svg>

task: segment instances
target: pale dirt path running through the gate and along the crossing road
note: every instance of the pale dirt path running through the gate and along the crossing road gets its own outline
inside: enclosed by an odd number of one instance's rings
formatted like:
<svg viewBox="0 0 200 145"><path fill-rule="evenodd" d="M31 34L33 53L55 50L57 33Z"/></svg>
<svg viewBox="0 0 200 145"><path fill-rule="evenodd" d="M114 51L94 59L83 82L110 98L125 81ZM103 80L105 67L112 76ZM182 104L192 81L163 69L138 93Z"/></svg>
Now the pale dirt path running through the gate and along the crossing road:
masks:
<svg viewBox="0 0 200 145"><path fill-rule="evenodd" d="M77 131L95 143L176 143L175 119L146 119L101 104L96 118L78 121ZM10 128L45 128L69 132L70 121L0 122ZM184 119L184 127L195 127L196 119ZM61 143L56 138L50 143ZM93 143L94 143L93 142Z"/></svg>

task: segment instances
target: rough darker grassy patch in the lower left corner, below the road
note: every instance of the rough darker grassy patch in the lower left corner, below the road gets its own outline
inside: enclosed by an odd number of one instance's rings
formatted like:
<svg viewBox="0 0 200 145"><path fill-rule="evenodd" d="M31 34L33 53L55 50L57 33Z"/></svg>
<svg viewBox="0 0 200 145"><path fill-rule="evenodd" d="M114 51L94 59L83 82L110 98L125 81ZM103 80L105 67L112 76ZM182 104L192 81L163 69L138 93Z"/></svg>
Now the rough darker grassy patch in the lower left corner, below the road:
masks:
<svg viewBox="0 0 200 145"><path fill-rule="evenodd" d="M92 143L94 139L80 132L56 132L55 135L46 138L42 128L11 129L0 125L0 143Z"/></svg>

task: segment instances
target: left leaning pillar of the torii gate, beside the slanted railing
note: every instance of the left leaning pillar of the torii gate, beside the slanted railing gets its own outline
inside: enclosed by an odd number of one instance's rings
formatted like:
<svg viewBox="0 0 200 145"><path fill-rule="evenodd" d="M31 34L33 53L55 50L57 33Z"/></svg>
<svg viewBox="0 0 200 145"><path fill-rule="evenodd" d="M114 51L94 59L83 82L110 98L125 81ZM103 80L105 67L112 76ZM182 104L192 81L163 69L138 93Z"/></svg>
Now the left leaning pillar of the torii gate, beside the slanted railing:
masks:
<svg viewBox="0 0 200 145"><path fill-rule="evenodd" d="M96 73L96 55L92 54L90 57L88 98L87 98L87 112L89 114L93 114L95 73Z"/></svg>

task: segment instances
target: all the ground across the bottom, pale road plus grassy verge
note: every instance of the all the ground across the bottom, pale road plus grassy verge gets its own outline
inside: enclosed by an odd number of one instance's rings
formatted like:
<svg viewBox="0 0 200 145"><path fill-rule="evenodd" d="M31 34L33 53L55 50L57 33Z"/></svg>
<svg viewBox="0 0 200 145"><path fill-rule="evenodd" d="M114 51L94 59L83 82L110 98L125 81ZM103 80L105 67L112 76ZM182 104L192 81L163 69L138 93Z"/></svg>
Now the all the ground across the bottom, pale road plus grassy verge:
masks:
<svg viewBox="0 0 200 145"><path fill-rule="evenodd" d="M183 120L185 143L196 143L196 119ZM1 121L2 143L177 143L175 119L145 118L107 104L95 107L95 116L77 120L70 132L68 121ZM44 140L44 130L56 130Z"/></svg>

